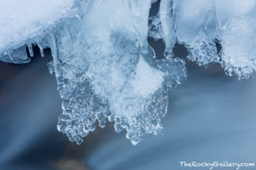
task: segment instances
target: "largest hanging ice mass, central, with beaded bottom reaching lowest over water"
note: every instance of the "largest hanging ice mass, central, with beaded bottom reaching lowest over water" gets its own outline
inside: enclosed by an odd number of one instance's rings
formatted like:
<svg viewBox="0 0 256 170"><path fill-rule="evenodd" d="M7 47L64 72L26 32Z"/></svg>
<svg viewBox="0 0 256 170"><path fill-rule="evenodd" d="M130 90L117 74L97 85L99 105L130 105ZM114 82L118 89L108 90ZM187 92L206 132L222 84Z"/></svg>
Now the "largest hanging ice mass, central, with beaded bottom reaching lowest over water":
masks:
<svg viewBox="0 0 256 170"><path fill-rule="evenodd" d="M65 99L59 130L80 144L96 121L104 127L108 119L115 122L116 132L125 129L137 144L145 134L162 131L167 92L184 81L184 63L154 59L147 42L150 1L109 0L88 6L79 32L71 34L73 42L65 32L57 36L61 63L55 68L62 72L59 88Z"/></svg>

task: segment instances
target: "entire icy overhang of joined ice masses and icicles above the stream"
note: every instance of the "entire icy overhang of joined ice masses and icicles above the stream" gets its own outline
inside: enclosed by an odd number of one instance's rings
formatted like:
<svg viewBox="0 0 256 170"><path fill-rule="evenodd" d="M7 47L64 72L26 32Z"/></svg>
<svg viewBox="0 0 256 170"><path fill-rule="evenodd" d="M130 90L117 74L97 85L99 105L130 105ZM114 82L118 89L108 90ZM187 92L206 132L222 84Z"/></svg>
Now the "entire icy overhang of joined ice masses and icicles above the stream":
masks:
<svg viewBox="0 0 256 170"><path fill-rule="evenodd" d="M153 3L160 8L149 16ZM81 144L108 120L137 144L162 132L168 93L186 79L183 59L172 53L176 43L185 44L188 59L219 63L230 76L255 71L255 6L254 0L3 0L0 60L26 63L26 47L30 56L32 45L42 56L50 48L49 72L63 109L58 130ZM156 58L148 37L165 42L165 59Z"/></svg>

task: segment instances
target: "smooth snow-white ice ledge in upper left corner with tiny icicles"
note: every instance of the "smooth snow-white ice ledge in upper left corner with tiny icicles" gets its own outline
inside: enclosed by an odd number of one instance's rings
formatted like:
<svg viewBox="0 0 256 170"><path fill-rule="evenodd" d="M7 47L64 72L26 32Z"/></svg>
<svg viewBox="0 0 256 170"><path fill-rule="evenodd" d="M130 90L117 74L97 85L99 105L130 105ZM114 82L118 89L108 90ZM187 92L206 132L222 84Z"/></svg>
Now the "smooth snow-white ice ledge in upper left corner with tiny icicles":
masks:
<svg viewBox="0 0 256 170"><path fill-rule="evenodd" d="M30 59L25 55L20 59L12 59L11 55L26 53L20 48L26 43L32 49L32 43L40 41L57 22L72 15L75 3L76 0L0 1L0 59L13 63L28 62ZM16 52L12 54L14 50Z"/></svg>

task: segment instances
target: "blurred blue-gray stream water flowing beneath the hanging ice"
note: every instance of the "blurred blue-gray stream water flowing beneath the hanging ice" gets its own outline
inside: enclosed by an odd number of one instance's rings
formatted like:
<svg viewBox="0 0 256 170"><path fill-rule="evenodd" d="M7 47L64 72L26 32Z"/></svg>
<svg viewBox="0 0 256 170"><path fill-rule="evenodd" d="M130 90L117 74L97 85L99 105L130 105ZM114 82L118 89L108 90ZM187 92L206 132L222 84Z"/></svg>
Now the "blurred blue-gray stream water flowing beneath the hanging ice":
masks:
<svg viewBox="0 0 256 170"><path fill-rule="evenodd" d="M256 163L255 75L239 82L218 65L205 69L187 62L188 80L170 94L164 135L133 146L109 123L79 146L56 130L61 99L49 60L48 54L27 65L0 64L0 169L177 170L186 169L179 161Z"/></svg>

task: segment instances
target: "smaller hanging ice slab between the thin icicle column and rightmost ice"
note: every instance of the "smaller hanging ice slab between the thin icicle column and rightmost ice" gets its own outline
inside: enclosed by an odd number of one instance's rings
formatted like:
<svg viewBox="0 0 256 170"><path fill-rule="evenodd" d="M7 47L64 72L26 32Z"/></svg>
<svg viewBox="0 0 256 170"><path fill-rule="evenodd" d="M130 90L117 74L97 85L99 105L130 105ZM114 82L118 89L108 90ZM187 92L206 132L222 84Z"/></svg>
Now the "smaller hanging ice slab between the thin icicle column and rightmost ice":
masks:
<svg viewBox="0 0 256 170"><path fill-rule="evenodd" d="M215 46L218 22L214 2L177 1L177 41L189 49L188 59L199 65L208 65L218 59Z"/></svg>

